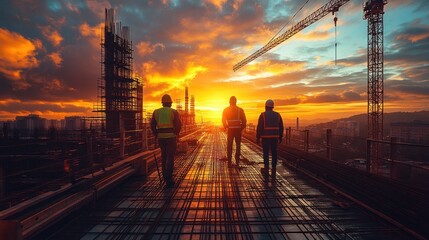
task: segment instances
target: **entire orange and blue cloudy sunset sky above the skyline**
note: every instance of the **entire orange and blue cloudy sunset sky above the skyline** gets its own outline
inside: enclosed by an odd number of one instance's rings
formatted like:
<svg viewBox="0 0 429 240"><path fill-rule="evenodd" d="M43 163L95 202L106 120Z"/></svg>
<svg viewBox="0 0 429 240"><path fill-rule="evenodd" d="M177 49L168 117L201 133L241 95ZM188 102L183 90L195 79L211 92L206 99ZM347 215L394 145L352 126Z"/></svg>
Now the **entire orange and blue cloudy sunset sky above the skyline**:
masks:
<svg viewBox="0 0 429 240"><path fill-rule="evenodd" d="M234 64L328 0L1 1L0 120L91 116L100 77L104 9L131 28L144 108L195 95L197 121L219 123L231 95L249 122L275 101L286 125L366 113L367 21L362 1L306 28L237 72ZM389 0L384 15L385 112L429 110L429 4ZM173 107L175 107L173 105Z"/></svg>

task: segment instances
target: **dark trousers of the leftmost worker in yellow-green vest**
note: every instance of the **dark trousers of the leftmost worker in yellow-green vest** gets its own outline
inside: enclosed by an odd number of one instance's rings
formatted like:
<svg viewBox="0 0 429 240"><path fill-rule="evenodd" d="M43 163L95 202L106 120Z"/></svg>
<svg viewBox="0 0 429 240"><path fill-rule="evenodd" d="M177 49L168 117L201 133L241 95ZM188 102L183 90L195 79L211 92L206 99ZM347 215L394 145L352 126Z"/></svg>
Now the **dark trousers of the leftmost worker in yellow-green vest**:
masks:
<svg viewBox="0 0 429 240"><path fill-rule="evenodd" d="M162 176L166 183L173 182L174 154L176 153L176 138L158 138L162 156Z"/></svg>

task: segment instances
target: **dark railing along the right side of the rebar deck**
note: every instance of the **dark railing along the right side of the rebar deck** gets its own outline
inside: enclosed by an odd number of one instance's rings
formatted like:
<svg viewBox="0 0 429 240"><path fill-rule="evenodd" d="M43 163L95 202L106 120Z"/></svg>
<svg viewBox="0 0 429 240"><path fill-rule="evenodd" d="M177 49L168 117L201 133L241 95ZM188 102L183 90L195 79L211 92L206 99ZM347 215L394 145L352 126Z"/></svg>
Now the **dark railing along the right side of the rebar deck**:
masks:
<svg viewBox="0 0 429 240"><path fill-rule="evenodd" d="M246 131L249 135L255 135L253 127L247 128ZM334 134L331 129L297 130L285 127L281 144L352 168L369 171L368 146L373 141L363 137ZM379 175L428 186L429 145L398 142L395 138L377 142L383 146L383 164Z"/></svg>

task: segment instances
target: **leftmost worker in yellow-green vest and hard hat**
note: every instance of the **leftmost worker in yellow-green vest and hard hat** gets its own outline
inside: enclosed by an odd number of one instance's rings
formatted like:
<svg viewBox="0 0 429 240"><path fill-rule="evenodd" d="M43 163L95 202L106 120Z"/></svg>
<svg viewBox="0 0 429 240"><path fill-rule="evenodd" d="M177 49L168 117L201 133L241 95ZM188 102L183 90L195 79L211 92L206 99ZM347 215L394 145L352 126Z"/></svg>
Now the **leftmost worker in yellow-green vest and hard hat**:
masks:
<svg viewBox="0 0 429 240"><path fill-rule="evenodd" d="M150 127L154 136L158 139L162 157L162 175L167 187L174 186L173 168L174 154L176 153L177 139L182 123L179 113L171 108L170 95L165 94L161 99L162 108L153 112Z"/></svg>

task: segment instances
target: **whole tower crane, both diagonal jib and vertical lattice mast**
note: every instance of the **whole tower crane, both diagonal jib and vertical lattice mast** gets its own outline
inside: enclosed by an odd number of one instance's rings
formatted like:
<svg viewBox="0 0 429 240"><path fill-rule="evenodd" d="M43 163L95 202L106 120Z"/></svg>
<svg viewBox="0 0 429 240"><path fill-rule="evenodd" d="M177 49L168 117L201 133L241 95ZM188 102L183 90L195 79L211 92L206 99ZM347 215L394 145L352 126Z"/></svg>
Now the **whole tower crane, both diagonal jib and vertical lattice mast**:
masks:
<svg viewBox="0 0 429 240"><path fill-rule="evenodd" d="M330 0L328 3L296 23L280 36L272 39L262 48L233 66L234 72L291 38L301 30L335 13L350 0ZM368 161L372 173L378 173L382 166L379 141L383 138L383 14L387 0L368 0L364 4L364 19L368 20ZM334 20L336 22L336 20Z"/></svg>

